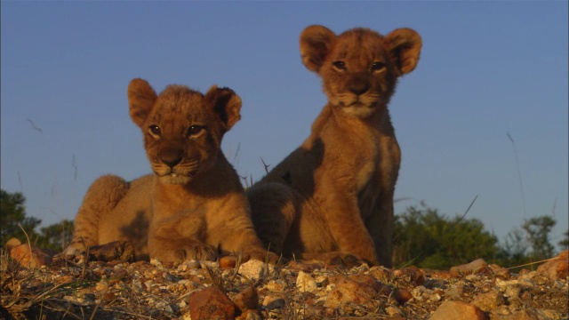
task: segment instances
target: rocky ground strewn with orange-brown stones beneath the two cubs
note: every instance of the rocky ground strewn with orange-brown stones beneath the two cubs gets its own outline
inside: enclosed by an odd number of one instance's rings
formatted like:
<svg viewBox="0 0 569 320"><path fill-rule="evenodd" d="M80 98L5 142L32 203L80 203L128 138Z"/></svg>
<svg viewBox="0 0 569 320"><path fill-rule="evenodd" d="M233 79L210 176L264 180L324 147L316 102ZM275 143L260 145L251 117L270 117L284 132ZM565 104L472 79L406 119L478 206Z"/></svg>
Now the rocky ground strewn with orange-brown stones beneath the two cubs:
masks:
<svg viewBox="0 0 569 320"><path fill-rule="evenodd" d="M513 274L484 260L443 271L274 267L235 256L164 266L133 262L128 244L59 257L28 244L9 249L0 319L569 318L566 251Z"/></svg>

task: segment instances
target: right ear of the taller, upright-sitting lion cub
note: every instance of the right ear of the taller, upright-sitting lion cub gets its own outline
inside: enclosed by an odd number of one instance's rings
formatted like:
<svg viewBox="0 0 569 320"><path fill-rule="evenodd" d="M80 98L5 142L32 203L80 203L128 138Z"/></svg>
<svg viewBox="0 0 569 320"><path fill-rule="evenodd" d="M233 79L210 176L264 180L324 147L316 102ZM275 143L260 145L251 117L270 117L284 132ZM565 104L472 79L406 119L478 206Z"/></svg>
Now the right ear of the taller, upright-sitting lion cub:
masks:
<svg viewBox="0 0 569 320"><path fill-rule="evenodd" d="M421 36L411 28L398 28L385 36L389 47L389 59L395 63L399 73L413 71L421 55Z"/></svg>

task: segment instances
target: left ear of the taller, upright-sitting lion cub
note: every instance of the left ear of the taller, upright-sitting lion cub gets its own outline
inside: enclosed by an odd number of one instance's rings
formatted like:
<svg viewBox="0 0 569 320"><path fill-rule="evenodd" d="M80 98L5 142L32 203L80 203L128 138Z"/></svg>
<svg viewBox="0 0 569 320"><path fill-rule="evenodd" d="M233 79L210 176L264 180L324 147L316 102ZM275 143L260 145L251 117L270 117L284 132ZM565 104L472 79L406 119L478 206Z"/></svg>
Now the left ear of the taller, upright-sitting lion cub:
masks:
<svg viewBox="0 0 569 320"><path fill-rule="evenodd" d="M309 26L301 33L301 57L302 63L310 71L318 72L326 54L330 52L336 34L324 26Z"/></svg>

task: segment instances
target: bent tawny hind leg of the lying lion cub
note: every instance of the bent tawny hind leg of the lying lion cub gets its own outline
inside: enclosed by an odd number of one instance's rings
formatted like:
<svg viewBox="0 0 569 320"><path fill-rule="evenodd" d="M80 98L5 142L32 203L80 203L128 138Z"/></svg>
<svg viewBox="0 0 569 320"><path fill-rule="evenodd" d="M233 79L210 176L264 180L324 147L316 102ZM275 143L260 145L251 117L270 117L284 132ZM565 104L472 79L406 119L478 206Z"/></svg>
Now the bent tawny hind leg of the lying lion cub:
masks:
<svg viewBox="0 0 569 320"><path fill-rule="evenodd" d="M100 221L113 211L128 189L129 184L116 175L105 175L95 180L77 212L73 239L65 252L83 252L99 244Z"/></svg>

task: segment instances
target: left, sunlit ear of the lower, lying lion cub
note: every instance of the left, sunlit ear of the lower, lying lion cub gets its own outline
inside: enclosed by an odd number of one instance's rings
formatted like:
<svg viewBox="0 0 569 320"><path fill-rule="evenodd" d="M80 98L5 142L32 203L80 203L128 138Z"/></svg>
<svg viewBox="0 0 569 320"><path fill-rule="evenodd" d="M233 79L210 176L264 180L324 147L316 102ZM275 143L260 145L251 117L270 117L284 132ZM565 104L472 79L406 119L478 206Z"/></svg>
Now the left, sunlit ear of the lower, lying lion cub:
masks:
<svg viewBox="0 0 569 320"><path fill-rule="evenodd" d="M132 122L142 126L157 98L156 92L146 80L132 79L128 85L128 104Z"/></svg>

